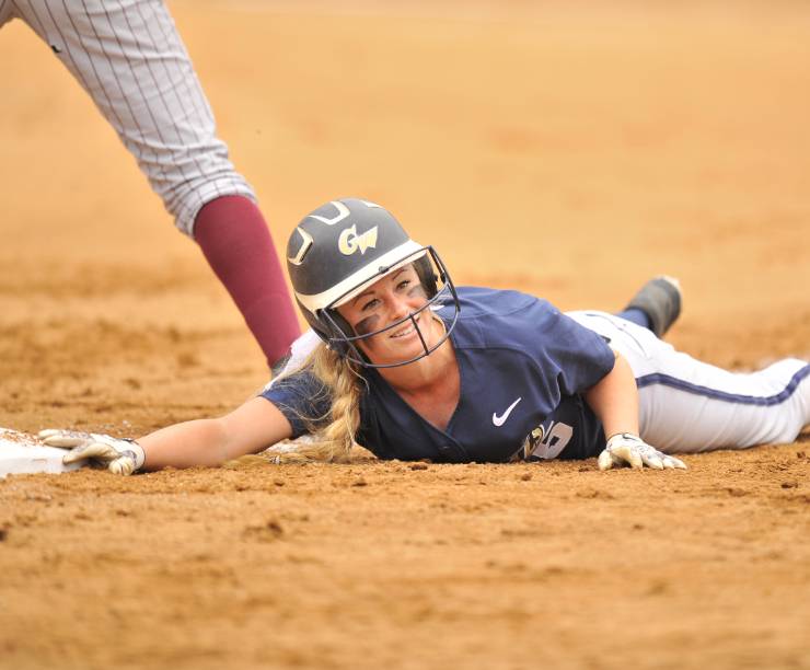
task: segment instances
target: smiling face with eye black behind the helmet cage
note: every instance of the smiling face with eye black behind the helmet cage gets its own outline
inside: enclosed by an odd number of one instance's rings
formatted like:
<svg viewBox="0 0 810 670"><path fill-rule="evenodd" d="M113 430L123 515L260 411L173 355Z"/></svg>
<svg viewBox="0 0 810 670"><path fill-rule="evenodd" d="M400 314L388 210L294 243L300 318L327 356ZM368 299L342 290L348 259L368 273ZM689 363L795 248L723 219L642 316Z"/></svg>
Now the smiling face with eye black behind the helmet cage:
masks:
<svg viewBox="0 0 810 670"><path fill-rule="evenodd" d="M416 326L428 345L441 336L429 309L419 312L413 320L406 319L425 307L427 300L414 266L406 265L385 275L337 310L358 335L368 335L405 319L398 326L357 343L372 362L385 363L424 351Z"/></svg>

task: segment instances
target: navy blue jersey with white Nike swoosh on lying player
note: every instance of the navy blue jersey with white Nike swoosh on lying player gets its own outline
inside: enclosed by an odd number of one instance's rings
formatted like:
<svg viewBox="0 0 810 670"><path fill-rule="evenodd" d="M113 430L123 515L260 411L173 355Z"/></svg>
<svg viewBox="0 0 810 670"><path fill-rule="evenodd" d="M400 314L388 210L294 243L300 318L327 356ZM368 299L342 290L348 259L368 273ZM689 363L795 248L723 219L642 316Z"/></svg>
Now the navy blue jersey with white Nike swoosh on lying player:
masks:
<svg viewBox="0 0 810 670"><path fill-rule="evenodd" d="M613 369L608 344L533 296L472 287L458 292L461 314L451 339L461 394L447 428L426 421L377 370L366 369L358 443L381 459L452 463L595 455L604 435L581 394ZM452 311L447 305L436 313L447 322ZM328 392L309 372L262 395L284 413L293 437L328 416Z"/></svg>

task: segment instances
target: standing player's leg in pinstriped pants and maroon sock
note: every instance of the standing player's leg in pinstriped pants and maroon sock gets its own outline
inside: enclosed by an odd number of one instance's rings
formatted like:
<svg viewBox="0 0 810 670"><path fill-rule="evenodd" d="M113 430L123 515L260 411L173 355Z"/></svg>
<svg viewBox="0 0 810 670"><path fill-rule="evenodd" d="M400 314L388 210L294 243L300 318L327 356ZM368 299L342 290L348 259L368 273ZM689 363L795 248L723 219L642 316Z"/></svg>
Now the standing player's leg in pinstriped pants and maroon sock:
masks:
<svg viewBox="0 0 810 670"><path fill-rule="evenodd" d="M228 160L185 46L158 0L0 0L91 95L177 228L201 247L268 363L300 334L253 188Z"/></svg>

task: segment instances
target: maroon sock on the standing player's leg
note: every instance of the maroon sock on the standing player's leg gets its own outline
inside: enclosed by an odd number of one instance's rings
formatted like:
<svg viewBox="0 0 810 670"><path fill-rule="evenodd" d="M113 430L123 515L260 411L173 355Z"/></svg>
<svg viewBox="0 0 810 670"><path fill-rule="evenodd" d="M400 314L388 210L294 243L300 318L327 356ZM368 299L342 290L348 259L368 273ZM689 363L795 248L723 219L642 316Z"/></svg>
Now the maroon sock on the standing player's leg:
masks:
<svg viewBox="0 0 810 670"><path fill-rule="evenodd" d="M271 367L301 334L270 231L258 207L223 196L199 210L194 239Z"/></svg>

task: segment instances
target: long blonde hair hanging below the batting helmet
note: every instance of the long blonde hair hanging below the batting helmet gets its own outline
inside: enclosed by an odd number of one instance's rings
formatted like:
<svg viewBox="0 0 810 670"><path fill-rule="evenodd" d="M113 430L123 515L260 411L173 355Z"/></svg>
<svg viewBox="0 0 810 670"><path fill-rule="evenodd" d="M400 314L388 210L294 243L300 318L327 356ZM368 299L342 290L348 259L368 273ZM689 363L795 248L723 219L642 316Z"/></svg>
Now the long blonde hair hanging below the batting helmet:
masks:
<svg viewBox="0 0 810 670"><path fill-rule="evenodd" d="M308 371L321 381L329 397L327 414L300 416L314 438L312 442L296 444L294 450L270 447L268 455L276 463L349 462L352 448L358 447L355 436L360 426L360 397L366 380L358 372L357 363L319 343L300 368L286 372L277 383Z"/></svg>

